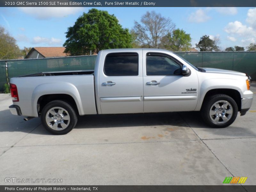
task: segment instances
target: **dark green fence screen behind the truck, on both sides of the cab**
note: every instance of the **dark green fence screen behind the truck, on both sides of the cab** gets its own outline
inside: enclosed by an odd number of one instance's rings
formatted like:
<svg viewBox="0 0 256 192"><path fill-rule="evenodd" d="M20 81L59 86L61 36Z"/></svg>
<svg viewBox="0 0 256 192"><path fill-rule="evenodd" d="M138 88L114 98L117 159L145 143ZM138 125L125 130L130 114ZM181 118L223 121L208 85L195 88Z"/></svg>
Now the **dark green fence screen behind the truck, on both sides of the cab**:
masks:
<svg viewBox="0 0 256 192"><path fill-rule="evenodd" d="M220 68L248 74L256 80L256 52L176 52L196 67ZM8 77L23 76L39 72L73 71L94 69L96 55L8 60ZM0 61L0 91L6 83L5 61Z"/></svg>

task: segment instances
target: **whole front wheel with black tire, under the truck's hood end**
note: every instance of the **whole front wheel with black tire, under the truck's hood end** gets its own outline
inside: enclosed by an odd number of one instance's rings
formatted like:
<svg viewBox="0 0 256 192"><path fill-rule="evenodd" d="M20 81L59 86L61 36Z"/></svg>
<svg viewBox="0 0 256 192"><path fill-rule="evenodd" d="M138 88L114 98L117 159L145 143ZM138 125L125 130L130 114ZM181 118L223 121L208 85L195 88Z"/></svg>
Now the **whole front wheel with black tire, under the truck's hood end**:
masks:
<svg viewBox="0 0 256 192"><path fill-rule="evenodd" d="M213 95L205 99L201 115L206 124L214 128L231 125L237 116L236 101L225 94Z"/></svg>

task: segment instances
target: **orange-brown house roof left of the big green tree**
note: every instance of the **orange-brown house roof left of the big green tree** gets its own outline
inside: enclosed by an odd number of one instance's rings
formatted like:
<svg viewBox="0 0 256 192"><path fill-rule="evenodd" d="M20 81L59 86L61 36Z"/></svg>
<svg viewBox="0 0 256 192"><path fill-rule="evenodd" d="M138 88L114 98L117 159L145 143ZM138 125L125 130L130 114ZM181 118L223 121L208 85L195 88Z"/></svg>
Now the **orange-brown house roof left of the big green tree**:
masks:
<svg viewBox="0 0 256 192"><path fill-rule="evenodd" d="M44 57L66 57L68 56L67 53L64 53L65 47L33 47L28 55L36 50ZM27 56L28 56L27 55Z"/></svg>

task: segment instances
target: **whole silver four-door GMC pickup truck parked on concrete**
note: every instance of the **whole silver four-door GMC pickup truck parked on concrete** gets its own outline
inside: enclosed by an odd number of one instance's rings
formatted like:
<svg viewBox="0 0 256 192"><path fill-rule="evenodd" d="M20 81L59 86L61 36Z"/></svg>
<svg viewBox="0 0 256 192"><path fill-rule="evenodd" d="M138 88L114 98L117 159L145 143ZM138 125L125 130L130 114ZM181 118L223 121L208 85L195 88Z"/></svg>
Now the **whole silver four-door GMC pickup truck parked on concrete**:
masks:
<svg viewBox="0 0 256 192"><path fill-rule="evenodd" d="M246 74L196 68L160 49L103 50L95 70L38 73L10 83L12 114L41 117L53 134L70 132L77 116L88 114L201 111L208 125L227 127L238 111L249 110L253 96Z"/></svg>

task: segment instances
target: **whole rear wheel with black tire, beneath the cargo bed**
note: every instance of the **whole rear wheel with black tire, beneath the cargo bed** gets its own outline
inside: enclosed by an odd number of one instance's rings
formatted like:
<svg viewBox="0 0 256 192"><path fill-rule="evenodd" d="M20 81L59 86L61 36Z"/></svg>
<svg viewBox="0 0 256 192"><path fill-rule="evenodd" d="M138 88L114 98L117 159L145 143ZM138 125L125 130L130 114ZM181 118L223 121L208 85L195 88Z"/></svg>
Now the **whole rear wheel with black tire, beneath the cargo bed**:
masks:
<svg viewBox="0 0 256 192"><path fill-rule="evenodd" d="M54 100L43 108L41 122L48 132L64 135L76 126L77 116L75 110L67 102Z"/></svg>

